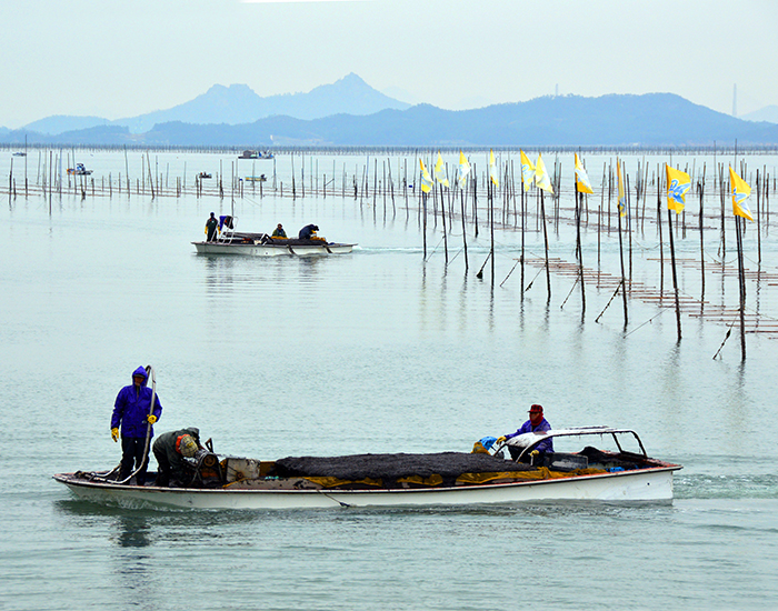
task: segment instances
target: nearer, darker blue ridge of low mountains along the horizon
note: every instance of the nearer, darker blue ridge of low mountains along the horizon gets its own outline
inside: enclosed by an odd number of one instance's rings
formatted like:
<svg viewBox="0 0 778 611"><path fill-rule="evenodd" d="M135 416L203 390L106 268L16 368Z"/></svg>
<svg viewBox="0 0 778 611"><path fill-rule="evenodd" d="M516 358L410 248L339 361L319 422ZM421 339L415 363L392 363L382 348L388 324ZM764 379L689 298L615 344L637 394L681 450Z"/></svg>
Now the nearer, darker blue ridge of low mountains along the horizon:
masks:
<svg viewBox="0 0 778 611"><path fill-rule="evenodd" d="M17 130L6 141L23 141ZM368 116L303 120L273 116L242 124L158 123L142 134L104 126L30 143L114 143L236 148L302 147L679 147L778 146L778 124L716 112L672 93L543 97L450 111L429 104Z"/></svg>

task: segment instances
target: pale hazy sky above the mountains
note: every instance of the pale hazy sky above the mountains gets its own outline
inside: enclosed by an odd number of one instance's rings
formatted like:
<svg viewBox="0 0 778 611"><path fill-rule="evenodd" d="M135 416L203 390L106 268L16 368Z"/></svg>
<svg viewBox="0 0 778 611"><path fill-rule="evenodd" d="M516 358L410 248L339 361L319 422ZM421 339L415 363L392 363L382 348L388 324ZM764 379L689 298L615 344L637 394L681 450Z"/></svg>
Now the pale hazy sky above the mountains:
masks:
<svg viewBox="0 0 778 611"><path fill-rule="evenodd" d="M672 92L778 104L778 1L0 0L0 126L134 117L212 84L310 91L349 72L463 109ZM736 8L737 7L737 8ZM738 16L741 20L738 21Z"/></svg>

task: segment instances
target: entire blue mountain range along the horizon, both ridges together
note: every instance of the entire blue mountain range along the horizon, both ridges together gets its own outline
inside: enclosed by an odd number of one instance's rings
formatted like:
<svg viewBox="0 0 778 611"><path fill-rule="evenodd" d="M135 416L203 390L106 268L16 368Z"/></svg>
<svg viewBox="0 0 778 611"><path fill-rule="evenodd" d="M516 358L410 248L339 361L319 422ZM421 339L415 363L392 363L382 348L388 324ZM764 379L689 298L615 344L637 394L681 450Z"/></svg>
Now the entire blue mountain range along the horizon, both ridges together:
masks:
<svg viewBox="0 0 778 611"><path fill-rule="evenodd" d="M409 104L356 74L308 93L261 98L213 86L168 110L108 121L49 117L0 141L44 146L198 147L624 147L778 144L778 124L749 121L672 93L549 96L450 111Z"/></svg>

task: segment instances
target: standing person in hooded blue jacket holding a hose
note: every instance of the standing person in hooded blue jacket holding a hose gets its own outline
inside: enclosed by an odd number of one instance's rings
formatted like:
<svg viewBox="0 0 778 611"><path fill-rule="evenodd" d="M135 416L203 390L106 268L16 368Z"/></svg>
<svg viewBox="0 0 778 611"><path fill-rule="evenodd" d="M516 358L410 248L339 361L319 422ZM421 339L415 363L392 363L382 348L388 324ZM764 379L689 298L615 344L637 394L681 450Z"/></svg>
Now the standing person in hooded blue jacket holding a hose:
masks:
<svg viewBox="0 0 778 611"><path fill-rule="evenodd" d="M153 437L153 424L162 415L162 404L159 397L154 397L153 412L151 411L151 389L146 385L149 374L146 369L139 367L132 372L132 383L124 387L117 394L111 417L111 437L119 441L119 425L121 424L121 471L119 480L126 480L134 469L140 468L136 480L138 485L146 483L146 470L149 465L146 451L147 431L149 440ZM146 460L143 460L146 458Z"/></svg>

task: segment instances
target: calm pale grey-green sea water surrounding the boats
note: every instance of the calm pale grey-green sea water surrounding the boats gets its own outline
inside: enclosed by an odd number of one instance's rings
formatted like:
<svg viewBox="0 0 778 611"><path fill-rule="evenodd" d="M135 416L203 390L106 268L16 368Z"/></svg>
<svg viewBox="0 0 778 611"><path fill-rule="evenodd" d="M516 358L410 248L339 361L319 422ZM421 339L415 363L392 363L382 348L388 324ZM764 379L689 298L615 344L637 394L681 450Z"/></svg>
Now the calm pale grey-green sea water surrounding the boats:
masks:
<svg viewBox="0 0 778 611"><path fill-rule="evenodd" d="M130 167L123 153L89 154L97 176ZM2 207L0 609L778 605L774 334L750 333L741 361L737 327L725 341L727 323L685 312L679 342L674 310L650 301L629 300L625 328L620 296L607 307L612 288L590 282L584 310L575 277L552 273L549 299L542 268L527 266L522 293L520 268L510 273L521 243L513 227L496 231L495 281L491 262L478 279L490 247L483 209L478 237L469 216L467 271L461 226L443 244L439 216L428 220L425 260L415 194L406 204L398 189L393 206L352 192L292 199L288 158L261 170L277 172L283 197L266 183L261 198L248 187L198 198L192 172L228 173L231 159L150 157L156 173L181 176L187 162L181 197L152 199L147 186L144 196L26 198L18 180ZM315 161L319 174L333 163ZM348 173L381 168L335 162L353 166ZM396 171L415 159L390 162ZM140 168L130 171L134 186ZM211 211L246 231L313 222L359 246L317 259L198 256L190 242ZM533 223L527 257L542 258ZM737 308L736 280L711 262L719 237L706 236L706 299ZM594 222L582 238L584 262L597 270ZM634 279L657 287L656 227L632 238ZM549 240L552 257L575 261L572 226L549 222ZM599 242L602 273L620 277L617 234ZM767 228L765 273L777 271L776 244ZM699 234L679 234L676 248L699 258ZM749 269L756 248L750 230ZM680 264L682 294L699 298L699 267ZM774 321L775 282L751 280L747 291L749 312ZM157 432L199 427L221 453L469 451L541 403L555 427L632 428L650 455L684 470L671 503L174 511L74 500L51 475L117 464L113 401L146 364L163 405Z"/></svg>

